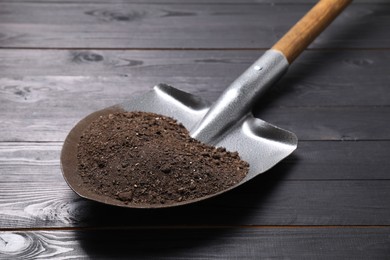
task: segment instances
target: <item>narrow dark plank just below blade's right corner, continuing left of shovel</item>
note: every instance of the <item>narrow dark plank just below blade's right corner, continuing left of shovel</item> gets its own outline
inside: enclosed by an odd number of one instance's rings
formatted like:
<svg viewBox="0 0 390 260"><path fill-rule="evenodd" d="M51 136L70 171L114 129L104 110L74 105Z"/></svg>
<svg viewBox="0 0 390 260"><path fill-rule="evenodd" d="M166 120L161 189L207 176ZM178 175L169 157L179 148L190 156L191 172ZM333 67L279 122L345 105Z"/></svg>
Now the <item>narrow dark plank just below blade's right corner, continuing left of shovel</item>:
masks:
<svg viewBox="0 0 390 260"><path fill-rule="evenodd" d="M62 182L62 143L0 143L0 182ZM390 180L389 141L311 142L271 169L263 180Z"/></svg>

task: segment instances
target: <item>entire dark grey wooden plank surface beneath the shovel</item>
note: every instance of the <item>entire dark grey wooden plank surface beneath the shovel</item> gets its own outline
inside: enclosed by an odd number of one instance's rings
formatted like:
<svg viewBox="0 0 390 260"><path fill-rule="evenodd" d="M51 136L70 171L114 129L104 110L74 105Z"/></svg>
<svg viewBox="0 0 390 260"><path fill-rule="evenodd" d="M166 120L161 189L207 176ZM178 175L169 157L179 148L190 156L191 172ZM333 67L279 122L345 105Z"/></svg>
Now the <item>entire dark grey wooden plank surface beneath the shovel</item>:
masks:
<svg viewBox="0 0 390 260"><path fill-rule="evenodd" d="M160 82L214 101L313 2L0 1L0 258L389 259L387 0L353 3L259 100L300 142L244 186L131 210L61 174L81 118Z"/></svg>

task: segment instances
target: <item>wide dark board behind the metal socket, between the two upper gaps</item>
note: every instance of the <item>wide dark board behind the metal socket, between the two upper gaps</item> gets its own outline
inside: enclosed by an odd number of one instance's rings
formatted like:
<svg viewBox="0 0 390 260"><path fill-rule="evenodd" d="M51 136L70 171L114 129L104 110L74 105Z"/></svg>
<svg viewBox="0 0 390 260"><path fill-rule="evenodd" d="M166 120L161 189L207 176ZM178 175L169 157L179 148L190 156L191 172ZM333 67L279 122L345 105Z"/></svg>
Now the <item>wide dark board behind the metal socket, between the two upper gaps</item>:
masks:
<svg viewBox="0 0 390 260"><path fill-rule="evenodd" d="M3 50L0 57L0 140L63 141L87 114L160 82L214 101L257 53ZM307 52L256 115L302 140L389 140L389 64L389 51Z"/></svg>

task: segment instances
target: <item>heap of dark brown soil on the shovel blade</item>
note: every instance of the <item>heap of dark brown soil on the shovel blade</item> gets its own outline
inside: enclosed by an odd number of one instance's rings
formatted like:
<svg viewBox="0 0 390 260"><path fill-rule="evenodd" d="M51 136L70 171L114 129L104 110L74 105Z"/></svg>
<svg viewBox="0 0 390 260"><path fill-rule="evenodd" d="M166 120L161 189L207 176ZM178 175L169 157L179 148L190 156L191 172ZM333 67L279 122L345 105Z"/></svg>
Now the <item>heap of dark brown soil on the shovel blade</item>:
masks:
<svg viewBox="0 0 390 260"><path fill-rule="evenodd" d="M78 145L83 185L130 205L194 200L239 183L249 165L237 152L203 144L172 118L145 112L101 116Z"/></svg>

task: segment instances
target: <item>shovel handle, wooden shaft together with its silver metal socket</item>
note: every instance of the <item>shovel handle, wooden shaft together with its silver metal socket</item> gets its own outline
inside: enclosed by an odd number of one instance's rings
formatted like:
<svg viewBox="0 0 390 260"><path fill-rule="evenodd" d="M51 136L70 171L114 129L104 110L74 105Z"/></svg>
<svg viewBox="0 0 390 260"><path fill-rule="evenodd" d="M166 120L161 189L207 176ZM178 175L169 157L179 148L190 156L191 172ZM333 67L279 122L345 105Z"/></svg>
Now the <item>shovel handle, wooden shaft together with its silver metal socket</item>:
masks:
<svg viewBox="0 0 390 260"><path fill-rule="evenodd" d="M230 84L203 118L193 126L191 136L204 143L221 144L221 140L231 133L231 129L241 129L236 132L239 135L247 132L248 130L243 130L243 122L248 119L256 100L282 77L289 64L350 2L352 0L322 0L315 5L271 50L266 51ZM235 128L237 125L240 128ZM266 128L258 130L264 134L267 132ZM257 136L258 133L249 134ZM230 142L229 145L236 144Z"/></svg>

